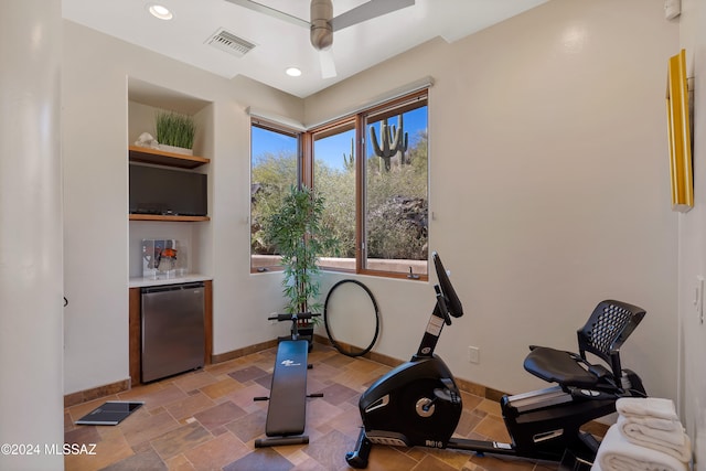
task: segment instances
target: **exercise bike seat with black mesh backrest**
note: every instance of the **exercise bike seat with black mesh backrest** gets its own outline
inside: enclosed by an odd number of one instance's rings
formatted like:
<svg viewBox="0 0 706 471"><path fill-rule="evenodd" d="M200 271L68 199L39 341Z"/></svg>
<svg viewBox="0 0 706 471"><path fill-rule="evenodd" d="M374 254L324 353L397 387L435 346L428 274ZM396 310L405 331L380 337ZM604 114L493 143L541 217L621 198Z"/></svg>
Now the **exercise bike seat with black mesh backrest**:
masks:
<svg viewBox="0 0 706 471"><path fill-rule="evenodd" d="M616 389L622 377L620 346L644 314L645 311L637 306L614 300L601 301L586 324L577 331L579 353L532 346L524 367L546 382L558 383L565 389ZM610 370L589 363L586 353L598 356Z"/></svg>

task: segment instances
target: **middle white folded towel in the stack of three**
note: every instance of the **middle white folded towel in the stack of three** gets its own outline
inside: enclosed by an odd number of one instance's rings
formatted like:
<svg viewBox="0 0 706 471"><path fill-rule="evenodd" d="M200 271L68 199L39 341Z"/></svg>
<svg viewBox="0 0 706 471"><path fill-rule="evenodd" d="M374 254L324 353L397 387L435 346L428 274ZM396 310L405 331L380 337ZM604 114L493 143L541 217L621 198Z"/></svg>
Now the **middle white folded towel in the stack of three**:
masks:
<svg viewBox="0 0 706 471"><path fill-rule="evenodd" d="M683 462L691 461L692 442L688 436L684 433L682 424L664 419L656 420L661 420L657 422L661 427L670 422L674 425L674 428L672 430L655 428L645 425L640 418L629 418L624 416L619 416L616 425L625 439L634 445L668 453Z"/></svg>

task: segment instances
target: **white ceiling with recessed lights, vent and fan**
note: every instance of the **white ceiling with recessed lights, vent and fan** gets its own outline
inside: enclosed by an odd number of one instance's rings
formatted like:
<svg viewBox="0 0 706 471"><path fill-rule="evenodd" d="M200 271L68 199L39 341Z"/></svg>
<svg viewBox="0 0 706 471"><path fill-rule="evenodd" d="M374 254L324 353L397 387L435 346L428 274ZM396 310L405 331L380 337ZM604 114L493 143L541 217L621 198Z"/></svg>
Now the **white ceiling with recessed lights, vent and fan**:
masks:
<svg viewBox="0 0 706 471"><path fill-rule="evenodd" d="M366 0L333 0L333 15ZM321 78L319 52L309 31L226 0L63 0L67 20L119 38L226 78L244 75L298 97L307 97L430 39L457 41L547 0L416 0L413 7L336 31L332 54L338 75ZM148 7L172 10L158 20ZM309 0L258 0L309 21ZM207 44L220 29L255 47L243 57ZM302 75L285 74L289 66Z"/></svg>

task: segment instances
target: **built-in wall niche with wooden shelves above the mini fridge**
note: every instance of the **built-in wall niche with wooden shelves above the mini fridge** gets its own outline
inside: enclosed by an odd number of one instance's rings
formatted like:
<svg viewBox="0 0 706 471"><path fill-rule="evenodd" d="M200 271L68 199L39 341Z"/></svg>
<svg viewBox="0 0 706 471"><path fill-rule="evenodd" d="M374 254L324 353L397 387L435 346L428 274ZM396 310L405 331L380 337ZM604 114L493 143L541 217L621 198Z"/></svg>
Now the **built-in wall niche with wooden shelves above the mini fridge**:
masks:
<svg viewBox="0 0 706 471"><path fill-rule="evenodd" d="M156 116L159 111L174 111L192 116L195 124L193 157L171 156L135 144L142 132L154 138ZM126 160L132 164L158 167L180 172L196 172L207 175L208 213L213 205L213 103L150 84L137 78L128 79L128 141ZM129 184L129 183L128 183ZM128 213L126 207L126 217ZM212 270L213 229L210 216L188 217L179 215L129 215L129 275L142 277L142 239L176 239L185 247L189 274L208 276Z"/></svg>

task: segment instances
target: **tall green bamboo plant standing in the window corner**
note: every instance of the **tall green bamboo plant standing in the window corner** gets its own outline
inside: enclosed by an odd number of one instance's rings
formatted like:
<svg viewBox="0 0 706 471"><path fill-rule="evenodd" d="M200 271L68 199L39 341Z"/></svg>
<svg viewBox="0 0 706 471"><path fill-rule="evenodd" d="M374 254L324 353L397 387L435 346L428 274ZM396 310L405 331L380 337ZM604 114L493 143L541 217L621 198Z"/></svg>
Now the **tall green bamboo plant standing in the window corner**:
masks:
<svg viewBox="0 0 706 471"><path fill-rule="evenodd" d="M319 257L327 251L335 251L336 240L325 234L323 227L324 199L308 186L291 186L284 197L279 211L264 222L266 239L276 247L280 264L285 268L282 295L287 299L288 313L320 313L322 303L318 300L320 281ZM300 322L300 335L310 341L313 335L312 322Z"/></svg>

